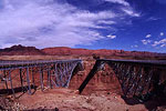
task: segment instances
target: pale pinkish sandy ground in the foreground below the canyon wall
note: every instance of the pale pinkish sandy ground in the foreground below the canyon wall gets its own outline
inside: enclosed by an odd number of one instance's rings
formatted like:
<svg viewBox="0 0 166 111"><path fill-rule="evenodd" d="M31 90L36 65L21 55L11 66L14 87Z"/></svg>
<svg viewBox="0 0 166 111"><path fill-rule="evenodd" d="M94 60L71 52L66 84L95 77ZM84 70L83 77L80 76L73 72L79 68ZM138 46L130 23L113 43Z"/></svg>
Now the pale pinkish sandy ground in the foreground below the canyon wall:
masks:
<svg viewBox="0 0 166 111"><path fill-rule="evenodd" d="M18 93L19 95L20 93ZM166 111L164 108L149 110L144 104L126 104L115 93L77 94L70 89L37 90L32 95L24 93L14 100L13 111Z"/></svg>

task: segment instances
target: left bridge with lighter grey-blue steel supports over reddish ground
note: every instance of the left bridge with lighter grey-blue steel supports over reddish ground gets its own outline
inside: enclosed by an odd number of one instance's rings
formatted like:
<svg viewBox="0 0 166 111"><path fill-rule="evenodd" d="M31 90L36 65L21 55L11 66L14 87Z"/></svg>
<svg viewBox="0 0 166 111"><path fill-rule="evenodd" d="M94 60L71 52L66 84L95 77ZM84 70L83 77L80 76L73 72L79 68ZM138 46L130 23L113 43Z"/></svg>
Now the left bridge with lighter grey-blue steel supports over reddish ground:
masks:
<svg viewBox="0 0 166 111"><path fill-rule="evenodd" d="M45 80L46 87L68 88L75 69L82 70L82 60L2 60L0 61L0 81L6 84L7 91L10 88L15 98L14 80L20 82L23 92L28 91L32 94L35 80L40 80L42 91Z"/></svg>

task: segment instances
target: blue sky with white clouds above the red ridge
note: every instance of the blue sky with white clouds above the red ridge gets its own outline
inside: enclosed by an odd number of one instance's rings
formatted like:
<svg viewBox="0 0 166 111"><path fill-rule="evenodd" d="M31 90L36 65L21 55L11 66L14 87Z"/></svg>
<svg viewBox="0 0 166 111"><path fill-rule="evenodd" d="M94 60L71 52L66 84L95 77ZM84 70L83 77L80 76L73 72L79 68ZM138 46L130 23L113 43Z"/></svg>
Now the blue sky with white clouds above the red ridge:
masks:
<svg viewBox="0 0 166 111"><path fill-rule="evenodd" d="M166 53L166 0L0 0L0 49Z"/></svg>

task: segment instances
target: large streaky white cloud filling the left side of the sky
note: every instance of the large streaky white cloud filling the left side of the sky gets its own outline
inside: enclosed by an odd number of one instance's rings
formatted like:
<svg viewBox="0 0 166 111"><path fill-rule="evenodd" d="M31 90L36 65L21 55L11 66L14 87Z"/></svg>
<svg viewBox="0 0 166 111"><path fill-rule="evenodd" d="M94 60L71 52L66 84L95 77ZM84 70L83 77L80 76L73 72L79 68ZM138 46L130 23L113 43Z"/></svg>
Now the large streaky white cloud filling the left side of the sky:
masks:
<svg viewBox="0 0 166 111"><path fill-rule="evenodd" d="M110 1L129 7L124 0ZM1 48L18 43L38 48L91 44L105 38L98 29L114 29L115 18L121 18L112 10L90 12L54 0L2 0L1 3ZM128 16L133 13L126 11Z"/></svg>

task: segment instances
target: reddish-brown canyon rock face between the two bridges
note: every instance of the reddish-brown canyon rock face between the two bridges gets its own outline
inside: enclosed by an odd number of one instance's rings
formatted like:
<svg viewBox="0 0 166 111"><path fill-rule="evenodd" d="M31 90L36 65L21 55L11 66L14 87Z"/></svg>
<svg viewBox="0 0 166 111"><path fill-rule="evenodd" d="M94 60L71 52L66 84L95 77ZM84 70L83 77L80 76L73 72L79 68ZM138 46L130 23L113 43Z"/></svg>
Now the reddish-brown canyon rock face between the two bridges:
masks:
<svg viewBox="0 0 166 111"><path fill-rule="evenodd" d="M85 80L89 72L92 70L95 60L85 60L84 63L84 71L80 71L73 75L70 88L71 89L79 89L82 82ZM118 83L117 78L115 77L114 71L112 68L105 64L105 67L97 71L95 75L90 80L85 89L83 90L83 94L90 94L97 91L102 91L103 93L117 93L121 94L122 90Z"/></svg>

